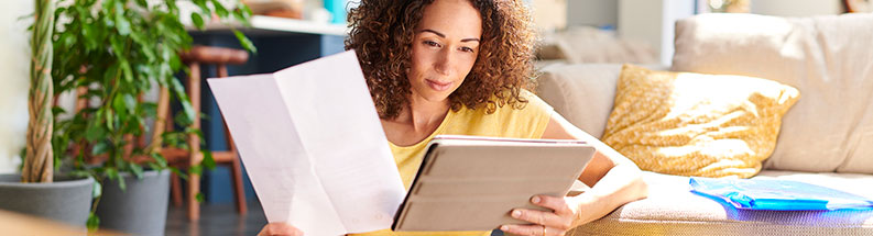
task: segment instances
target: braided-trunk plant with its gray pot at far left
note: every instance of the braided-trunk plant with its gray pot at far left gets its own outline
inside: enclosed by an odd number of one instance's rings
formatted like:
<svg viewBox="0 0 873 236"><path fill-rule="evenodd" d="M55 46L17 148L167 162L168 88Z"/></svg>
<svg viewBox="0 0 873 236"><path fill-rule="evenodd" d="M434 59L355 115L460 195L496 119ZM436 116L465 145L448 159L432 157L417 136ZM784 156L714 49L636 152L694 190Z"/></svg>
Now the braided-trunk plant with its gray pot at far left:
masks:
<svg viewBox="0 0 873 236"><path fill-rule="evenodd" d="M52 1L34 1L30 41L30 121L22 155L24 161L20 176L0 175L0 209L84 226L91 203L94 179L54 173L58 162L51 143L54 122L52 34L55 22Z"/></svg>

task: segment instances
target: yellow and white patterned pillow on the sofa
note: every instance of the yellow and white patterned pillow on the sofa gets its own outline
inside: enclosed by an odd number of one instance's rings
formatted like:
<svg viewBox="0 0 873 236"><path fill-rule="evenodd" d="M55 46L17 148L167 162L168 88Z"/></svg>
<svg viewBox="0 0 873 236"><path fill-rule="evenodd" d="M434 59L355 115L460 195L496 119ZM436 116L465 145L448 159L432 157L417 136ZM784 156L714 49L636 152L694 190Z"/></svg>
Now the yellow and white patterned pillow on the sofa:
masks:
<svg viewBox="0 0 873 236"><path fill-rule="evenodd" d="M662 173L749 178L776 146L797 89L775 81L624 65L603 142Z"/></svg>

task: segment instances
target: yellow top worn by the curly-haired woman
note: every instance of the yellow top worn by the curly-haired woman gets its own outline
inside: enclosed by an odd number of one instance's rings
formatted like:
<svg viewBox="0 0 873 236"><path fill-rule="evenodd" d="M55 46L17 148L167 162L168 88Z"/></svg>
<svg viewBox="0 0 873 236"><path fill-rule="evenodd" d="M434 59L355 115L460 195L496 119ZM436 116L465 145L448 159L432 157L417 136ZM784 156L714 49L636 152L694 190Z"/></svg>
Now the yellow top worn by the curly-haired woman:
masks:
<svg viewBox="0 0 873 236"><path fill-rule="evenodd" d="M410 190L412 180L418 171L424 158L425 147L436 135L476 135L491 137L541 138L552 119L552 106L535 94L523 90L522 97L528 100L524 109L516 110L511 105L498 108L492 114L484 109L471 110L462 108L457 112L449 110L436 131L422 142L410 146L397 146L389 142L394 161L397 164L403 186ZM495 225L496 226L496 225ZM382 229L364 234L367 236L439 236L439 235L476 235L488 236L491 232L391 232Z"/></svg>

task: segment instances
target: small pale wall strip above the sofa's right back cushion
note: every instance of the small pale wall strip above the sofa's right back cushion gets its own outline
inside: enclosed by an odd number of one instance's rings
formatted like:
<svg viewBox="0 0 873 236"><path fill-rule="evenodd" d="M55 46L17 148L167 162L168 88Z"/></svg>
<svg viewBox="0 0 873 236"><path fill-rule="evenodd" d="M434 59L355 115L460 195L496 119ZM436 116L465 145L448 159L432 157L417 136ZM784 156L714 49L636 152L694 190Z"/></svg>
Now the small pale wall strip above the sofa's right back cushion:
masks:
<svg viewBox="0 0 873 236"><path fill-rule="evenodd" d="M777 16L812 16L843 12L841 0L752 0L750 9L755 14Z"/></svg>

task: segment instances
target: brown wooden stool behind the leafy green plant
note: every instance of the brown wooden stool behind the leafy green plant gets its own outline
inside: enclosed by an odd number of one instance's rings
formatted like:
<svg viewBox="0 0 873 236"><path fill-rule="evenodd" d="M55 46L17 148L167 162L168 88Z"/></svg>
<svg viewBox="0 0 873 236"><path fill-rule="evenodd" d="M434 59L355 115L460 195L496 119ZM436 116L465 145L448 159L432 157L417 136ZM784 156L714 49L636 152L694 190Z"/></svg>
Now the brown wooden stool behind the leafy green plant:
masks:
<svg viewBox="0 0 873 236"><path fill-rule="evenodd" d="M228 77L227 66L228 64L232 65L241 65L245 64L249 59L249 54L245 50L241 49L231 49L231 48L222 48L222 47L211 47L211 46L194 46L188 52L184 52L179 54L179 57L183 61L188 65L188 69L190 74L188 75L188 87L187 87L187 94L190 99L190 104L195 111L194 122L189 127L192 128L200 128L200 65L201 64L214 64L218 68L218 78ZM162 100L164 95L167 95L168 100L168 91L162 91ZM163 109L168 111L168 105L159 104L159 110ZM166 114L166 113L165 113ZM164 114L164 115L165 115ZM166 116L164 116L166 117ZM172 124L172 119L167 119ZM172 125L167 125L167 128L172 128ZM155 128L155 131L159 131ZM233 194L237 203L237 212L239 214L244 215L247 212L245 207L245 193L244 189L242 188L242 170L240 167L240 159L237 156L237 147L233 145L233 138L230 136L230 132L228 131L227 125L225 125L225 137L227 139L228 150L225 151L212 151L212 158L215 159L216 164L230 164L231 169L231 178L233 181ZM162 149L162 154L167 159L167 162L171 162L178 167L190 167L193 165L200 164L203 161L203 154L200 154L200 138L196 134L192 134L188 136L188 146L190 147L190 151L178 149L178 148L164 148ZM172 182L172 196L173 203L176 206L182 205L182 187L181 180L178 176L173 175L171 177ZM197 193L200 191L200 177L197 175L189 175L188 176L188 194L187 194L187 202L188 202L188 218L192 221L197 221L200 217L200 205L197 202Z"/></svg>

